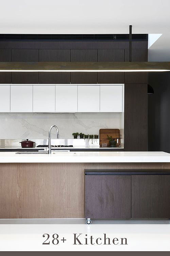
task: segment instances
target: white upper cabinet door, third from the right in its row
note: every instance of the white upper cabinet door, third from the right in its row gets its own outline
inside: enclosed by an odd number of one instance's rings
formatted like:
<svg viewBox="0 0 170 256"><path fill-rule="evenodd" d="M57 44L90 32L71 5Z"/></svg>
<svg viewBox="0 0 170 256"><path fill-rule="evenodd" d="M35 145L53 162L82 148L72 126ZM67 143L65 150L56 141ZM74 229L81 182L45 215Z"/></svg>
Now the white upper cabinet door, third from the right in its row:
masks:
<svg viewBox="0 0 170 256"><path fill-rule="evenodd" d="M77 112L77 85L55 86L55 112Z"/></svg>

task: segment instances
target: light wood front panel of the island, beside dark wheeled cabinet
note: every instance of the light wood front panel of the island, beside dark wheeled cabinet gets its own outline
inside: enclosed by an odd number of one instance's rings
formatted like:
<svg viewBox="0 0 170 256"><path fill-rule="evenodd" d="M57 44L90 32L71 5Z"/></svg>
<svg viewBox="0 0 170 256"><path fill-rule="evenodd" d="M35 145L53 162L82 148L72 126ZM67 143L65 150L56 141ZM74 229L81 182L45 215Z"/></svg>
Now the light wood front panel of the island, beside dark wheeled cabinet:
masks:
<svg viewBox="0 0 170 256"><path fill-rule="evenodd" d="M84 169L170 169L170 163L0 163L0 218L84 218Z"/></svg>

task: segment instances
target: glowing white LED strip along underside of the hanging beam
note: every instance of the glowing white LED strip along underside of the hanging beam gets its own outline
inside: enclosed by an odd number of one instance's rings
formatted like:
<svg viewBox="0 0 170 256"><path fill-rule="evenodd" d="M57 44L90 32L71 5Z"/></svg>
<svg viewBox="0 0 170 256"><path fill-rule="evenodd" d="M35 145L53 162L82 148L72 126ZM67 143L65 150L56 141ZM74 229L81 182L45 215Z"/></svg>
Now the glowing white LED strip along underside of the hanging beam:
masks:
<svg viewBox="0 0 170 256"><path fill-rule="evenodd" d="M139 70L0 70L0 72L161 72L169 69L139 69Z"/></svg>

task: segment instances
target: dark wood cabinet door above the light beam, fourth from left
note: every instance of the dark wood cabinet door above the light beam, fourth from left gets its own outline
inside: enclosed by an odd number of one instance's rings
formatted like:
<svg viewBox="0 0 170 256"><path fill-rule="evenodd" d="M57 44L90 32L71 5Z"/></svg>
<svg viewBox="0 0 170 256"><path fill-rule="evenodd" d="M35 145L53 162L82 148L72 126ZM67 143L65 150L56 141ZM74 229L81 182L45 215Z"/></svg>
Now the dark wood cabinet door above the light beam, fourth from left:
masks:
<svg viewBox="0 0 170 256"><path fill-rule="evenodd" d="M71 61L97 62L97 49L71 49Z"/></svg>

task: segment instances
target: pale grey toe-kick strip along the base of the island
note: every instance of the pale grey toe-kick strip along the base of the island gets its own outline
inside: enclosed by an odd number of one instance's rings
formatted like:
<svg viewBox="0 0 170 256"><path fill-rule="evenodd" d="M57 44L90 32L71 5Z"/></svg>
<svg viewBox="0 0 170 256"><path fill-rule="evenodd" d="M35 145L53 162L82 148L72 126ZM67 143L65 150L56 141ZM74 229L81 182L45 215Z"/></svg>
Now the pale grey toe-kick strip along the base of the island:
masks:
<svg viewBox="0 0 170 256"><path fill-rule="evenodd" d="M169 224L169 219L91 219L92 224ZM0 224L85 224L86 219L0 219Z"/></svg>

